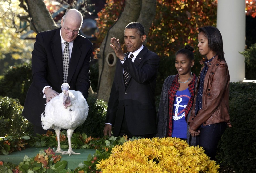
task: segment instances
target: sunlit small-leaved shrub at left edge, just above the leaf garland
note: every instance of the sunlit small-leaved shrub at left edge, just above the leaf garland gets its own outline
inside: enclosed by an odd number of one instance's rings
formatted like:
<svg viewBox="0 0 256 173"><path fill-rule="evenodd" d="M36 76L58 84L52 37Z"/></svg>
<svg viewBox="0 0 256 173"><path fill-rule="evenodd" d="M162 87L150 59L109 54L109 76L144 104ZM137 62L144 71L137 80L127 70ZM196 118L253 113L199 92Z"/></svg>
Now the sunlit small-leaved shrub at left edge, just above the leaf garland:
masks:
<svg viewBox="0 0 256 173"><path fill-rule="evenodd" d="M23 107L17 99L0 96L0 136L31 132L31 124L21 115Z"/></svg>

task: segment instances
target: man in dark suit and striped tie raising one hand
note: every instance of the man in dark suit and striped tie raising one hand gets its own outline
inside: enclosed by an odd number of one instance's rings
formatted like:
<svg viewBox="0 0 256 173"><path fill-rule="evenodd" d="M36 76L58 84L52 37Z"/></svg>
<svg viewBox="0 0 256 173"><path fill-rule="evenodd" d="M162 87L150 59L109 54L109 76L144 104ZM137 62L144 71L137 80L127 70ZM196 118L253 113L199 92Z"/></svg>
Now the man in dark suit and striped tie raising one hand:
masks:
<svg viewBox="0 0 256 173"><path fill-rule="evenodd" d="M154 95L160 59L143 45L145 39L145 28L138 22L129 23L124 30L128 53L123 53L119 39L111 38L110 46L119 59L108 101L104 135L111 136L112 126L114 136L152 138L155 135Z"/></svg>

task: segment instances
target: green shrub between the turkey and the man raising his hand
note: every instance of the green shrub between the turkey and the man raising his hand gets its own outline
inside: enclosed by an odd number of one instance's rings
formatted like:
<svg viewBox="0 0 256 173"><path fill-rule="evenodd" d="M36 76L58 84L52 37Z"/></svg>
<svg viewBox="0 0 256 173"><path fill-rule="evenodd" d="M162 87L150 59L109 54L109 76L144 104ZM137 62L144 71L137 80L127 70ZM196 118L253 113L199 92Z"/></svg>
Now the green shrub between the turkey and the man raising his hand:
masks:
<svg viewBox="0 0 256 173"><path fill-rule="evenodd" d="M88 117L84 124L75 131L94 138L102 137L108 105L103 100L98 100L95 95L89 95L87 103L89 105Z"/></svg>

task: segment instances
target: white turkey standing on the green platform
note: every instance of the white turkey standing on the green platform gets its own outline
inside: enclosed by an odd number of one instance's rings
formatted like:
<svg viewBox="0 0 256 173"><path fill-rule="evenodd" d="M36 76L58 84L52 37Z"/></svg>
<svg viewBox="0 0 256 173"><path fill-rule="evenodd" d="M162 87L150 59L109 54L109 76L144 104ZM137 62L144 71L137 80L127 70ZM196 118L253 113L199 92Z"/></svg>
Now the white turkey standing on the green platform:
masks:
<svg viewBox="0 0 256 173"><path fill-rule="evenodd" d="M80 91L69 90L68 83L61 85L62 93L52 98L41 114L42 127L45 130L54 129L57 135L58 147L55 153L75 153L71 147L71 137L74 130L82 125L87 118L89 106ZM60 148L60 130L67 129L68 151Z"/></svg>

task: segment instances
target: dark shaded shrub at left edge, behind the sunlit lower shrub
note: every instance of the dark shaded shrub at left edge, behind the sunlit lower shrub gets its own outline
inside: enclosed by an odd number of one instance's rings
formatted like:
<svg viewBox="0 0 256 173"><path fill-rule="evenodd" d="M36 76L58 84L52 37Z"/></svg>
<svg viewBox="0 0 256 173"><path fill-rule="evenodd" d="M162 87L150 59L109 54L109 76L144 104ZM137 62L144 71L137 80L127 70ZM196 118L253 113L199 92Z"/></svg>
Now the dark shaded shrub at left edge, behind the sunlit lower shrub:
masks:
<svg viewBox="0 0 256 173"><path fill-rule="evenodd" d="M23 106L26 94L32 83L31 64L23 63L11 66L0 78L0 96L17 98Z"/></svg>

